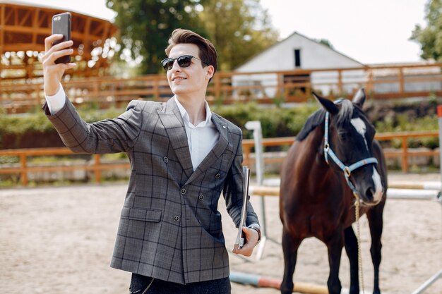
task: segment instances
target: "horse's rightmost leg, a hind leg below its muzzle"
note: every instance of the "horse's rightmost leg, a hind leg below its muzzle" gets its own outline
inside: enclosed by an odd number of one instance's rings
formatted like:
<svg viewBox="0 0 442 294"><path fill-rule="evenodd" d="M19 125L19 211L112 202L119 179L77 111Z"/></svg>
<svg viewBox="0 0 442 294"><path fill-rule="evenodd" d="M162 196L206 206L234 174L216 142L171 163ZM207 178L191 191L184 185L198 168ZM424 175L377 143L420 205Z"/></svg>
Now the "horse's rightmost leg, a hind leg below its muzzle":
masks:
<svg viewBox="0 0 442 294"><path fill-rule="evenodd" d="M374 283L373 283L373 293L381 294L379 289L379 265L381 264L381 235L383 230L383 203L379 203L373 209L370 209L366 213L367 219L369 220L369 228L371 234L371 261L374 267Z"/></svg>

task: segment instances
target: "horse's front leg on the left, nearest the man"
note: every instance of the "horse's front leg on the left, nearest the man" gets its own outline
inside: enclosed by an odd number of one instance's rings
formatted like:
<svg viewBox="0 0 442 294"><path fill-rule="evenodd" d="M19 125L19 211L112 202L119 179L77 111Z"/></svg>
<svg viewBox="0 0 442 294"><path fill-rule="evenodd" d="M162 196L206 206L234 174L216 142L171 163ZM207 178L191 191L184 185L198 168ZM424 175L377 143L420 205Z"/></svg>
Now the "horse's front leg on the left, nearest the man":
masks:
<svg viewBox="0 0 442 294"><path fill-rule="evenodd" d="M284 252L284 276L281 283L281 294L293 292L293 273L297 263L298 248L301 244L299 238L285 228L282 230L282 252Z"/></svg>

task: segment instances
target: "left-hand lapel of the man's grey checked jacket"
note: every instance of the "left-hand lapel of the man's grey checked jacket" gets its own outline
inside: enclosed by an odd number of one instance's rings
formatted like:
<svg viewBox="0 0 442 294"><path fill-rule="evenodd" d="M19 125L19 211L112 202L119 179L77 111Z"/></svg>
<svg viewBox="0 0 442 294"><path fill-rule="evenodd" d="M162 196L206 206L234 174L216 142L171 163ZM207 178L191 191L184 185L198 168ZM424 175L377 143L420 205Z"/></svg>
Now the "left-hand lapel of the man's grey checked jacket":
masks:
<svg viewBox="0 0 442 294"><path fill-rule="evenodd" d="M158 111L158 115L160 116L162 124L165 126L170 144L177 154L178 161L183 167L186 177L189 178L193 173L191 154L189 152L189 145L187 144L184 121L173 98L166 102L165 109Z"/></svg>

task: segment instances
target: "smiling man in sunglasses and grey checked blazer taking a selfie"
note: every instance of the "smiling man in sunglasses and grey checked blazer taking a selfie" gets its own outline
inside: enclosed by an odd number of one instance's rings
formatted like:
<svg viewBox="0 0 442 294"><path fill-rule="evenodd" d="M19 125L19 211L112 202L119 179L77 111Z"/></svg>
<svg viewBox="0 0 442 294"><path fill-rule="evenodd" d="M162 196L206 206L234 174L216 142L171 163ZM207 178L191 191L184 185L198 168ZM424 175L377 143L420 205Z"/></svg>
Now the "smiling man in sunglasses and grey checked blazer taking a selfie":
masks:
<svg viewBox="0 0 442 294"><path fill-rule="evenodd" d="M242 207L241 130L210 111L208 82L217 68L213 44L189 30L172 32L162 66L174 97L134 100L124 114L85 123L60 84L75 63L71 41L44 41L43 109L74 152L126 152L131 177L111 267L132 272L130 293L230 293L229 260L217 202L221 192L238 226ZM93 197L93 195L92 195ZM246 244L258 243L258 218L248 203Z"/></svg>

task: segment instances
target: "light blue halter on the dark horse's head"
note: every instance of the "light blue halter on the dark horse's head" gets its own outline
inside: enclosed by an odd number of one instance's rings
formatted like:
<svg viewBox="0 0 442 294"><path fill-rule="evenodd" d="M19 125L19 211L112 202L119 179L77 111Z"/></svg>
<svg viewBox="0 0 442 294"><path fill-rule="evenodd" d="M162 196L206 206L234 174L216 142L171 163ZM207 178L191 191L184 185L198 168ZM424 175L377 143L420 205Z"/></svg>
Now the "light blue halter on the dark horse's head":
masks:
<svg viewBox="0 0 442 294"><path fill-rule="evenodd" d="M329 113L327 112L325 114L325 133L324 133L324 157L325 157L325 161L327 161L328 163L328 156L331 157L331 159L333 159L333 161L335 161L335 164L338 164L338 166L340 167L340 169L342 169L342 171L344 172L344 176L345 176L345 180L347 181L347 185L350 187L350 189L352 189L353 193L355 195L357 195L357 190L356 188L354 188L354 185L352 184L352 182L350 182L350 175L352 174L352 171L354 171L355 169L359 169L361 166L365 166L367 164L378 164L378 159L374 158L374 157L369 157L367 159L362 159L357 161L356 163L350 165L350 166L345 166L344 163L342 163L342 161L340 161L340 159L336 156L335 152L333 152L333 150L330 148L330 144L328 143L328 120L329 120Z"/></svg>

